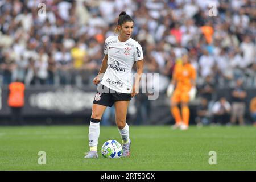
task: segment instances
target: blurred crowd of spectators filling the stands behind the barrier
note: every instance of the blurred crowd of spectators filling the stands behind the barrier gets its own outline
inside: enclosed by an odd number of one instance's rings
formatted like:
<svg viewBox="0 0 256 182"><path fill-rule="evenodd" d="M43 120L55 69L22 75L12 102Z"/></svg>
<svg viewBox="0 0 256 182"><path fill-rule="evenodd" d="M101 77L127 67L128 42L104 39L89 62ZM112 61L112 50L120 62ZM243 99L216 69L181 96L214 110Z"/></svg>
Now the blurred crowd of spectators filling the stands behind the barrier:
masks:
<svg viewBox="0 0 256 182"><path fill-rule="evenodd" d="M254 0L0 0L0 85L92 85L124 10L144 72L170 80L186 50L210 102L215 88L236 88L237 80L256 86L255 9Z"/></svg>

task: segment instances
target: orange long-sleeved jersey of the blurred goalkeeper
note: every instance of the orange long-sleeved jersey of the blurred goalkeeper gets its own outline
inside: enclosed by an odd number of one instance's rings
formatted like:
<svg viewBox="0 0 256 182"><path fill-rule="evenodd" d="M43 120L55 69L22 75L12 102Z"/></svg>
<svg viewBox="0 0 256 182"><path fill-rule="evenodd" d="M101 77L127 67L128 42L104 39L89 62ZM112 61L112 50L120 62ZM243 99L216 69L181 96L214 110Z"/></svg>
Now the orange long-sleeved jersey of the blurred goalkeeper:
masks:
<svg viewBox="0 0 256 182"><path fill-rule="evenodd" d="M172 77L176 81L176 89L191 89L191 80L196 79L196 69L190 63L177 63Z"/></svg>

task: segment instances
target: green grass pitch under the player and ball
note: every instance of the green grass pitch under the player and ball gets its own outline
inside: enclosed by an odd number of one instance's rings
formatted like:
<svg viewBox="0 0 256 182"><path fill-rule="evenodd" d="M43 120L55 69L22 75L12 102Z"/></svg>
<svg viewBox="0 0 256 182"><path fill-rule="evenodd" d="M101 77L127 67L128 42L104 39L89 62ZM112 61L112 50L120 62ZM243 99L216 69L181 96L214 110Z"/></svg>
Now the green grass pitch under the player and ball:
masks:
<svg viewBox="0 0 256 182"><path fill-rule="evenodd" d="M117 127L101 126L98 159L84 159L88 130L81 126L0 127L0 170L256 170L255 127L130 126L129 158L106 159L102 144L121 142ZM39 151L46 164L39 165ZM210 165L210 151L217 164Z"/></svg>

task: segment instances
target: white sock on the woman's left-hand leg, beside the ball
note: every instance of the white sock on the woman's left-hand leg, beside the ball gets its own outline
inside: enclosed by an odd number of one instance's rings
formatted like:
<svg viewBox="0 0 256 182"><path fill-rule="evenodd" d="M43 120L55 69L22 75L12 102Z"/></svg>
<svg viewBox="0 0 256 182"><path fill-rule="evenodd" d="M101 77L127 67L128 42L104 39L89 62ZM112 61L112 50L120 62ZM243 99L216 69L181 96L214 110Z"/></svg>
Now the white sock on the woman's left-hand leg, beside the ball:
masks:
<svg viewBox="0 0 256 182"><path fill-rule="evenodd" d="M90 150L97 151L98 137L100 137L100 122L90 122L89 126L89 146Z"/></svg>

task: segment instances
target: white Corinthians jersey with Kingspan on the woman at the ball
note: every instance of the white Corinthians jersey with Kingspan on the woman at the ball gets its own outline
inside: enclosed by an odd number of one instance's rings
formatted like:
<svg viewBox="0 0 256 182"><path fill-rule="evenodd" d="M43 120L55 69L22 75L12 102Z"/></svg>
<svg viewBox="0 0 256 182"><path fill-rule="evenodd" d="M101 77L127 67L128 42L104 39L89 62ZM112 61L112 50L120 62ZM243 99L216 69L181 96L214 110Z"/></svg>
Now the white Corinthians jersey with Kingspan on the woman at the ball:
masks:
<svg viewBox="0 0 256 182"><path fill-rule="evenodd" d="M141 45L132 38L120 42L118 36L109 36L105 41L104 53L108 54L108 68L101 84L119 93L131 93L134 61L143 59Z"/></svg>

